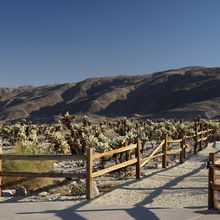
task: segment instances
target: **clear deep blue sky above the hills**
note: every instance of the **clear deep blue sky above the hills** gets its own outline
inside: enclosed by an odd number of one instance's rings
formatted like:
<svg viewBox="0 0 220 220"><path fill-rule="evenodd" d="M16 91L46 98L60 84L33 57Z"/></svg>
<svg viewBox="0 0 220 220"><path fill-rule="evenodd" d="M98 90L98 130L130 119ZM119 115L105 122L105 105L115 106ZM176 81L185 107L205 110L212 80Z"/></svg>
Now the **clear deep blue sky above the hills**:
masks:
<svg viewBox="0 0 220 220"><path fill-rule="evenodd" d="M0 0L0 87L220 66L219 0Z"/></svg>

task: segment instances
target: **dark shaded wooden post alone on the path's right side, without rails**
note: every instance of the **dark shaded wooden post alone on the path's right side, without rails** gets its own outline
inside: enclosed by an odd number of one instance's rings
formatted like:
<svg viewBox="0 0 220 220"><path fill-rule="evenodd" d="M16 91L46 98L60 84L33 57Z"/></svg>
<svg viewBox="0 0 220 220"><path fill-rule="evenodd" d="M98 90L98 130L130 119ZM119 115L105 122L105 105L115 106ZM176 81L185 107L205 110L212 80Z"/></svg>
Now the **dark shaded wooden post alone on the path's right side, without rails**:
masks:
<svg viewBox="0 0 220 220"><path fill-rule="evenodd" d="M210 165L215 164L215 154L209 154L209 163ZM215 208L215 192L211 187L211 183L215 184L215 168L209 167L209 176L208 176L208 207L209 209Z"/></svg>

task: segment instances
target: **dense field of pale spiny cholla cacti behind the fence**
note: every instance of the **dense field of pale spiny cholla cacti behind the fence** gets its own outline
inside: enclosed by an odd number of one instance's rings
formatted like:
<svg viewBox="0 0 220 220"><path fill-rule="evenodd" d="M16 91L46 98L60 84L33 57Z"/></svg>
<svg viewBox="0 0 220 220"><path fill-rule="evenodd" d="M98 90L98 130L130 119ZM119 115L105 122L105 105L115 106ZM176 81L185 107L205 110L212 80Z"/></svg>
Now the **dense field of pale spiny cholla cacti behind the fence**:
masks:
<svg viewBox="0 0 220 220"><path fill-rule="evenodd" d="M75 122L75 116L68 112L55 124L32 124L22 120L15 124L4 123L0 127L1 145L14 145L23 142L30 146L46 146L58 154L85 155L86 148L92 147L95 152L103 153L141 140L142 152L146 142L155 144L168 134L171 139L181 138L182 135L194 135L200 130L212 128L220 134L220 123L214 120L177 121L166 120L156 122L153 120L136 120L134 118L121 118L92 123L84 116L80 123ZM119 155L123 160L122 154ZM104 161L114 158L103 158Z"/></svg>

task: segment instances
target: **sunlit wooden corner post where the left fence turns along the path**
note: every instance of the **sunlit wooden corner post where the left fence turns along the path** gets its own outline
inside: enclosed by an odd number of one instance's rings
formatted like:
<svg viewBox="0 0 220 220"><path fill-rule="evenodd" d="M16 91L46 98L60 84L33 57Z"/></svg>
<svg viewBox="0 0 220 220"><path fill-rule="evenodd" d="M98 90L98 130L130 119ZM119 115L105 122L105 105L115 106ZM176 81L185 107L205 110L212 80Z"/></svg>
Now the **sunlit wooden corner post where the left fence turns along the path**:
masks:
<svg viewBox="0 0 220 220"><path fill-rule="evenodd" d="M86 198L92 199L92 167L93 167L93 148L86 148Z"/></svg>

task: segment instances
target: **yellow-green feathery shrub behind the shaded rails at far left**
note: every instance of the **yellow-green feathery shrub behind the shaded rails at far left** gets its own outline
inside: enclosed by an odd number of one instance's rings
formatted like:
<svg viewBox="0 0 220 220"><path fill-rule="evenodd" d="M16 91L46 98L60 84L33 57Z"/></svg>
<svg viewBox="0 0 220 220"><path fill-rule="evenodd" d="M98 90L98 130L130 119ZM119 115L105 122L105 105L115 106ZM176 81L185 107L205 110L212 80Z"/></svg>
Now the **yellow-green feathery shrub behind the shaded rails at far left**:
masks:
<svg viewBox="0 0 220 220"><path fill-rule="evenodd" d="M16 155L49 154L47 149L42 149L32 142L21 141L16 143L12 152ZM3 171L5 172L48 172L53 168L53 161L31 161L31 160L4 160ZM15 188L24 186L27 190L35 190L52 183L51 178L22 178L3 177L3 188Z"/></svg>

